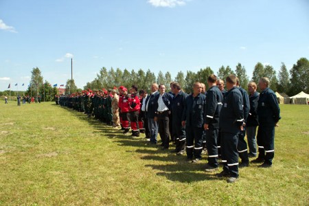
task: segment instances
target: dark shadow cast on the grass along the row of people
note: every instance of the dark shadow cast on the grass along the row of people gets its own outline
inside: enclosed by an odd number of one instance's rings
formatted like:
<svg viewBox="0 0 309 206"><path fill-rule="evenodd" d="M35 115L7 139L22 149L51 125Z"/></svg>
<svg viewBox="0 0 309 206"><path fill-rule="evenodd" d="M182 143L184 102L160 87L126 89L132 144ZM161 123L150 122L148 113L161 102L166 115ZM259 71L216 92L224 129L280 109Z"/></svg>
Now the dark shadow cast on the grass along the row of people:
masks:
<svg viewBox="0 0 309 206"><path fill-rule="evenodd" d="M164 176L170 181L178 181L181 183L218 180L218 178L216 178L214 174L207 174L205 172L202 172L205 164L188 163L186 161L185 155L177 156L171 152L174 148L170 148L170 150L161 150L161 146L154 146L149 144L149 141L146 141L146 138L144 137L131 137L130 135L124 135L122 134L122 130L112 128L111 126L108 126L103 122L98 121L98 119L88 117L86 114L75 111L72 108L61 108L69 111L75 117L78 117L82 121L87 122L87 124L94 128L93 133L101 133L102 136L113 139L113 142L115 142L118 146L138 148L135 151L126 150L126 152L137 152L139 154L144 154L141 157L142 160L162 162L163 164L158 163L145 165L145 167L150 167L152 168L152 170L161 171L157 172L158 176Z"/></svg>

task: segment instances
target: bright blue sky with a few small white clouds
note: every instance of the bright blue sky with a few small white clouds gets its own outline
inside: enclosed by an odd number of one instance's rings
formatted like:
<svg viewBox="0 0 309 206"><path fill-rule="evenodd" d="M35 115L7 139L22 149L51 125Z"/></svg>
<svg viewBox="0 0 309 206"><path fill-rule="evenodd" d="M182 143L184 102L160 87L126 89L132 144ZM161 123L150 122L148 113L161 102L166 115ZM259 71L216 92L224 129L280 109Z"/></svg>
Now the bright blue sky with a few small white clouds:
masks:
<svg viewBox="0 0 309 206"><path fill-rule="evenodd" d="M26 90L34 67L65 84L71 58L81 89L102 67L290 69L309 58L308 11L308 0L0 0L0 91Z"/></svg>

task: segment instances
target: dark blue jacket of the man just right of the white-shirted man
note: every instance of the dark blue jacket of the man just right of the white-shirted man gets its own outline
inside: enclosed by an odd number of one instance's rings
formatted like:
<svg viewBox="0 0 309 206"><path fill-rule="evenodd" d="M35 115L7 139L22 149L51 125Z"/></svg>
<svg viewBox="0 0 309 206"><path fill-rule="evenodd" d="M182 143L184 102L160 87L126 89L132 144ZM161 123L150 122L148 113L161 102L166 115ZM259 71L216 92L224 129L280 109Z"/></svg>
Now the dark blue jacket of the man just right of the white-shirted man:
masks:
<svg viewBox="0 0 309 206"><path fill-rule="evenodd" d="M187 93L179 91L178 95L174 95L172 101L172 122L175 126L181 124L181 118L183 116L183 109L185 108L185 99L187 98Z"/></svg>

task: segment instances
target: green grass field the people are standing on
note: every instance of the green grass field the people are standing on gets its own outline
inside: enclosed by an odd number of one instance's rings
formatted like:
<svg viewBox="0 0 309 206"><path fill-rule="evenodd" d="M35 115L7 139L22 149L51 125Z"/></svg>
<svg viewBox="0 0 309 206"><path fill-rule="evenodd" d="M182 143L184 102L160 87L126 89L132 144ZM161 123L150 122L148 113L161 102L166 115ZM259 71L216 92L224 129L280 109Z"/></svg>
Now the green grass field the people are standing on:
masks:
<svg viewBox="0 0 309 206"><path fill-rule="evenodd" d="M54 102L0 101L0 205L309 205L309 106L280 107L273 168L228 184L205 156L187 163Z"/></svg>

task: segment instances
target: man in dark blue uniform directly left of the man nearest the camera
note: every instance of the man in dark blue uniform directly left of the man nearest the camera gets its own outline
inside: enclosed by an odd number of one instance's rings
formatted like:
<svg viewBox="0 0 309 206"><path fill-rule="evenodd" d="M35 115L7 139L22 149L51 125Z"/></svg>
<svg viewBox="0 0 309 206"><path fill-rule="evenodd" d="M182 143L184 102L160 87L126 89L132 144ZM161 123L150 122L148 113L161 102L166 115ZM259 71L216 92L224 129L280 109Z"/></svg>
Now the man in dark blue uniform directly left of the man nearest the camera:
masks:
<svg viewBox="0 0 309 206"><path fill-rule="evenodd" d="M206 130L206 148L208 153L208 163L206 172L218 170L218 133L219 117L222 107L223 96L218 87L216 87L217 77L211 74L208 77L208 91L205 106L204 129Z"/></svg>

